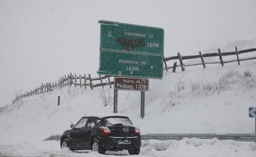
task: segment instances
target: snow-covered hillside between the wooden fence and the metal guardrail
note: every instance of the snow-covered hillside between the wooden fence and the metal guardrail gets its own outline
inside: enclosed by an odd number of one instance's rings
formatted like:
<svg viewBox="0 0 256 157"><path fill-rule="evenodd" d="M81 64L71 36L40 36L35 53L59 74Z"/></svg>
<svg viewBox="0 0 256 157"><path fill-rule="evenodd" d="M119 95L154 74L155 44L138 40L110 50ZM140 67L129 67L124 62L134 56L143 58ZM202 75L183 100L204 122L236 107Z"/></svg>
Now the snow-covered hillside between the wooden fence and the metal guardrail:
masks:
<svg viewBox="0 0 256 157"><path fill-rule="evenodd" d="M150 80L144 119L137 91L118 92L118 113L128 115L142 134L254 133L248 108L256 105L256 64L242 64L165 72L162 80ZM101 87L64 87L24 98L0 113L1 142L41 141L62 134L85 113L112 112L113 87L104 91L106 106Z"/></svg>

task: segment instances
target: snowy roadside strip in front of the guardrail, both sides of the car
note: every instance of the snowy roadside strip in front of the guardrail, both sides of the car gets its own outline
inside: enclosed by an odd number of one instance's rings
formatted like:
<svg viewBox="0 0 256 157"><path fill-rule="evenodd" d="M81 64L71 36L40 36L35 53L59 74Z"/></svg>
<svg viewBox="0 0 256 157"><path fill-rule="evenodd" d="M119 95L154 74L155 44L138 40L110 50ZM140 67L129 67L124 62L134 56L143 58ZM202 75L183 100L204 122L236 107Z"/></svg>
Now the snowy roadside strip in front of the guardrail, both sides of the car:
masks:
<svg viewBox="0 0 256 157"><path fill-rule="evenodd" d="M59 142L20 142L0 145L0 152L12 157L114 157L129 155L127 150L107 151L101 155L91 151L74 152L60 149ZM1 154L0 154L1 155ZM218 139L187 139L181 141L142 141L139 157L255 157L256 144Z"/></svg>

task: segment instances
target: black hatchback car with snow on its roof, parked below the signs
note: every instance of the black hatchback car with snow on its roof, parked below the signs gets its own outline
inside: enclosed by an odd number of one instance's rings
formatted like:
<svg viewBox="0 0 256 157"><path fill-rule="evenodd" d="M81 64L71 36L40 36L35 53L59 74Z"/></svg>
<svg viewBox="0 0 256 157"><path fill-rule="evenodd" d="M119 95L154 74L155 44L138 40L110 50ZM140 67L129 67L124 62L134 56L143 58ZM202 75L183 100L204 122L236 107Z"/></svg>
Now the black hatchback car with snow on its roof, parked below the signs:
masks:
<svg viewBox="0 0 256 157"><path fill-rule="evenodd" d="M140 151L139 128L123 114L108 113L85 115L77 124L70 126L61 137L61 148L92 150L104 154L106 150L128 150L130 155Z"/></svg>

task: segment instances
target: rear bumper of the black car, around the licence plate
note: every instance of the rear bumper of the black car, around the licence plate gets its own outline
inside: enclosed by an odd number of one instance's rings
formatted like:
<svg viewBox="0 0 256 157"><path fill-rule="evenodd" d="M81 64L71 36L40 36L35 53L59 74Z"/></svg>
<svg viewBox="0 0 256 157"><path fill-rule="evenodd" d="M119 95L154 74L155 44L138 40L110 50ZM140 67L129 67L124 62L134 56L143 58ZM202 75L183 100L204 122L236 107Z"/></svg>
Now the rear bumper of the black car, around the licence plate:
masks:
<svg viewBox="0 0 256 157"><path fill-rule="evenodd" d="M130 144L118 144L118 140L129 140ZM112 137L112 136L105 136L102 137L100 142L101 148L105 150L124 150L124 149L133 149L139 148L141 146L141 138L140 136L134 137Z"/></svg>

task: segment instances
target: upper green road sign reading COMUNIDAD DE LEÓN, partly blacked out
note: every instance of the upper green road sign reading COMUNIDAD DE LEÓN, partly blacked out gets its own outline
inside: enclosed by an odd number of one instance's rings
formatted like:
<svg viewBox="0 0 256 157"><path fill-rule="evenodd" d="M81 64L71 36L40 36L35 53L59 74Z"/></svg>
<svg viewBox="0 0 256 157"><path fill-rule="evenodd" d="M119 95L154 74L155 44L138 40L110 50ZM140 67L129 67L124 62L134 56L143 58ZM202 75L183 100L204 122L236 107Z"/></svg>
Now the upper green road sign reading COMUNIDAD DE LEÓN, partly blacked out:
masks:
<svg viewBox="0 0 256 157"><path fill-rule="evenodd" d="M100 20L101 50L163 55L164 30Z"/></svg>

